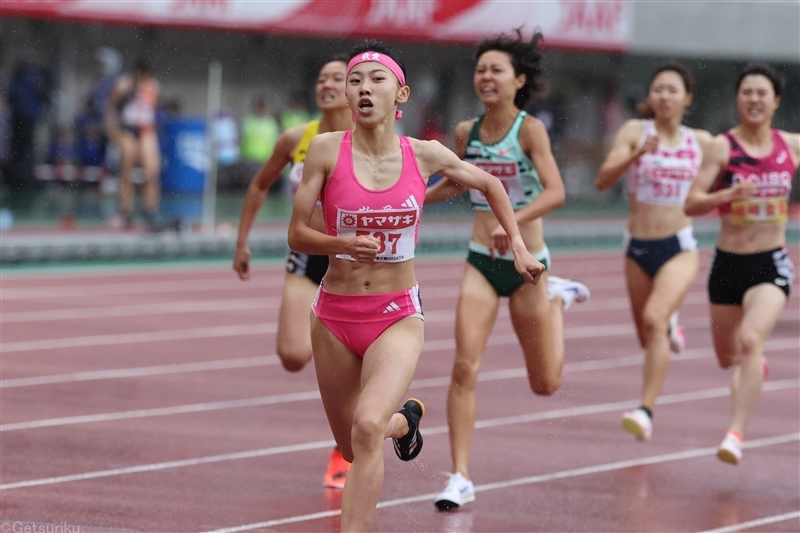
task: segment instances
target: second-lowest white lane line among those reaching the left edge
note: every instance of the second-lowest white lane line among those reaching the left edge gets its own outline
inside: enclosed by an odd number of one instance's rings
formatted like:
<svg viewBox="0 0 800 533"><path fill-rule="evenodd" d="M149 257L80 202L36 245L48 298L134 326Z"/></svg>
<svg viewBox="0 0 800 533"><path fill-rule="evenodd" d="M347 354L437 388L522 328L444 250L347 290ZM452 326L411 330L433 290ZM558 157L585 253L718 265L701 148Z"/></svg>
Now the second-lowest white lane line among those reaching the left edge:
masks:
<svg viewBox="0 0 800 533"><path fill-rule="evenodd" d="M783 350L793 348L796 342L795 339L776 339L768 341L764 347L765 352ZM687 350L683 354L676 355L672 361L688 361L692 359L705 358L710 356L710 348L695 348ZM628 366L641 366L643 356L625 356L615 357L610 359L600 359L593 361L583 361L579 363L567 363L564 365L565 373L588 372L593 370L606 370L610 368L622 368ZM273 363L274 364L274 363ZM482 372L478 375L479 382L498 381L504 379L517 379L527 377L527 370L525 368L509 368L502 370L495 370L491 372ZM789 380L793 383L792 380ZM767 383L782 383L779 381ZM420 390L435 387L446 387L450 384L449 376L442 376L436 378L426 378L414 380L409 387L409 390ZM766 385L765 385L766 387ZM719 391L727 391L727 388L713 389L714 394L719 394ZM681 396L682 397L682 396ZM664 397L669 398L669 397ZM219 411L223 409L240 409L245 407L257 407L263 405L274 405L278 403L291 403L302 402L309 400L319 399L319 392L317 390L304 391L290 394L278 394L270 396L260 396L256 398L242 398L238 400L222 400L217 402L204 402L196 404L175 405L171 407L156 407L151 409L135 409L130 411L117 411L111 413L99 413L92 415L79 415L67 416L61 418L45 418L40 420L30 420L26 422L14 422L8 424L0 424L0 432L18 431L26 429L38 429L54 426L68 426L74 424L87 424L96 422L110 422L114 420L129 420L133 418L149 418L154 416L170 416L189 413L200 413L209 411ZM660 400L662 401L662 400ZM669 400L663 400L670 403ZM624 406L621 408L627 408ZM636 407L636 406L633 406ZM529 416L529 415L525 415ZM497 419L503 420L503 419ZM500 425L504 425L501 423Z"/></svg>

